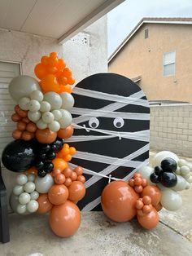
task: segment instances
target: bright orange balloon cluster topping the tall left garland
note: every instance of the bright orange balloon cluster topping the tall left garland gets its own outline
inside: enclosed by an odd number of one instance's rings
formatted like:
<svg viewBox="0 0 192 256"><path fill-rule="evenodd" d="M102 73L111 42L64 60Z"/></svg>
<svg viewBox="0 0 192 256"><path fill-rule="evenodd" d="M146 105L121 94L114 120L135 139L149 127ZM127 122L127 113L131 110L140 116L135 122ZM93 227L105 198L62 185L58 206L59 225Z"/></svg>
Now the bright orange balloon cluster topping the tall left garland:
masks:
<svg viewBox="0 0 192 256"><path fill-rule="evenodd" d="M35 66L34 72L41 79L40 86L44 92L72 92L72 85L75 83L72 71L66 67L63 59L58 58L56 52L42 56L41 63Z"/></svg>

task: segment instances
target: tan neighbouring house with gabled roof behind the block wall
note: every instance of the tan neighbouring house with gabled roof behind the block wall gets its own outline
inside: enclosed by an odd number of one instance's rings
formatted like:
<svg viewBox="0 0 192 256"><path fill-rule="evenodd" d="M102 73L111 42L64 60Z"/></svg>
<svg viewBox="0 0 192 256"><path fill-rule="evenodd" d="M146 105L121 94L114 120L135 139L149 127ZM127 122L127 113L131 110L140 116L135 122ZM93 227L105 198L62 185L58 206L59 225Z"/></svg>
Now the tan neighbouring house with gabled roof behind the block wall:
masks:
<svg viewBox="0 0 192 256"><path fill-rule="evenodd" d="M192 103L192 18L143 18L108 61L149 100Z"/></svg>

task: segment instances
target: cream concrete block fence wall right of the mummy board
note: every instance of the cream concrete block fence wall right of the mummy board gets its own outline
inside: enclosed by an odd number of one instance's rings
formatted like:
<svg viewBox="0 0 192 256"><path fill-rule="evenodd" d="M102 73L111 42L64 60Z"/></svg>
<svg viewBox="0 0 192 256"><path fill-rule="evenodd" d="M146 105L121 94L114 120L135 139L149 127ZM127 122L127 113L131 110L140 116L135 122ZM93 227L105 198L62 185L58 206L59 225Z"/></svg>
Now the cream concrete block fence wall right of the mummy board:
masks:
<svg viewBox="0 0 192 256"><path fill-rule="evenodd" d="M192 104L151 106L150 146L192 157Z"/></svg>

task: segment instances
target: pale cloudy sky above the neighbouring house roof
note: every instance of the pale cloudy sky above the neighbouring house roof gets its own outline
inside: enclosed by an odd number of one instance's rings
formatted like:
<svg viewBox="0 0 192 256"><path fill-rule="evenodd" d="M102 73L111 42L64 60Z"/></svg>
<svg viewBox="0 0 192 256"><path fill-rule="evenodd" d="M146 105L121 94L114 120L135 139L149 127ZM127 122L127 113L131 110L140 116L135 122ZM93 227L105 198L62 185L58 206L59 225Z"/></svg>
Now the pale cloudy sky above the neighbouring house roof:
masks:
<svg viewBox="0 0 192 256"><path fill-rule="evenodd" d="M108 56L143 17L192 17L192 0L126 0L107 15Z"/></svg>

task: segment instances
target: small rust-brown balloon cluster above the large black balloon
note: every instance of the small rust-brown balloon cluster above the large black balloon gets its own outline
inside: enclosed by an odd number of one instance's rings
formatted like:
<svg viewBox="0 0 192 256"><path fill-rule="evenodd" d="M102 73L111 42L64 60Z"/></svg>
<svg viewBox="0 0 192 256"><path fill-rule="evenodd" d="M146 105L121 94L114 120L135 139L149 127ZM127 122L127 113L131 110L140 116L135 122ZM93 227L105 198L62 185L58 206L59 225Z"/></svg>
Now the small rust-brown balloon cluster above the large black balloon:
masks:
<svg viewBox="0 0 192 256"><path fill-rule="evenodd" d="M30 140L35 136L37 126L28 119L28 111L24 111L19 105L15 106L15 113L12 114L12 121L17 122L17 129L12 132L14 139Z"/></svg>

